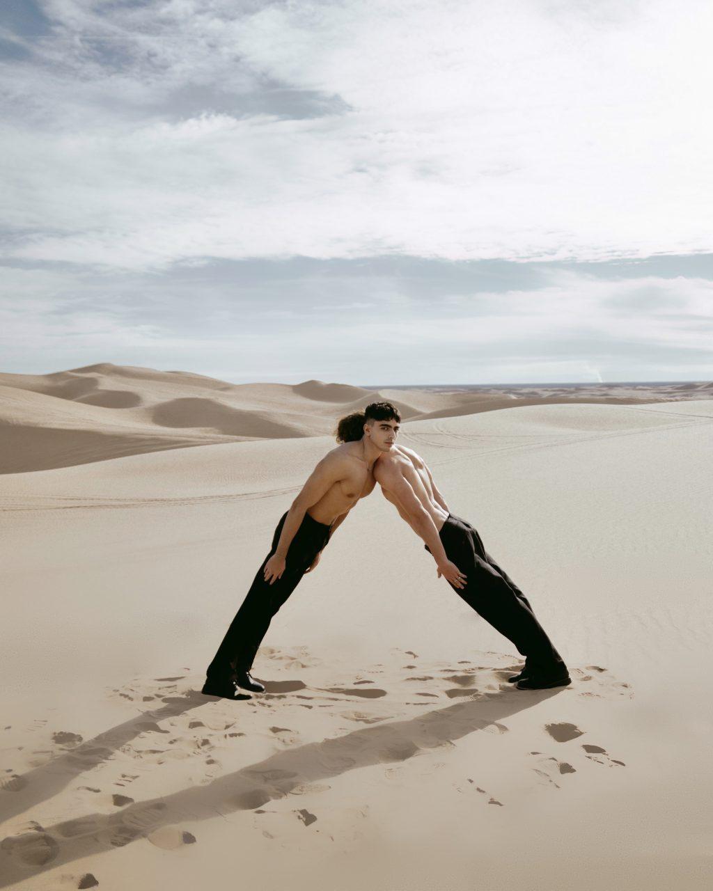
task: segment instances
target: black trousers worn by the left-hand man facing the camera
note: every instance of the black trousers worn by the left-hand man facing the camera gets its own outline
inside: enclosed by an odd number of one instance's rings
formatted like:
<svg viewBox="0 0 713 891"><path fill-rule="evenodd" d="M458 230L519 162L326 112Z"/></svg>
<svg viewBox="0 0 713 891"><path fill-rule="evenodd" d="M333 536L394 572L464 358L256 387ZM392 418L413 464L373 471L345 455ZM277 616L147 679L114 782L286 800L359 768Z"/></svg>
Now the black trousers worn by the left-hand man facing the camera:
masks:
<svg viewBox="0 0 713 891"><path fill-rule="evenodd" d="M236 670L247 670L258 652L272 617L299 584L312 560L329 541L332 527L312 519L308 513L290 543L283 575L273 584L265 581L264 570L280 541L287 512L283 513L273 535L273 544L258 569L250 591L242 601L223 642L208 667L209 680L220 681Z"/></svg>

